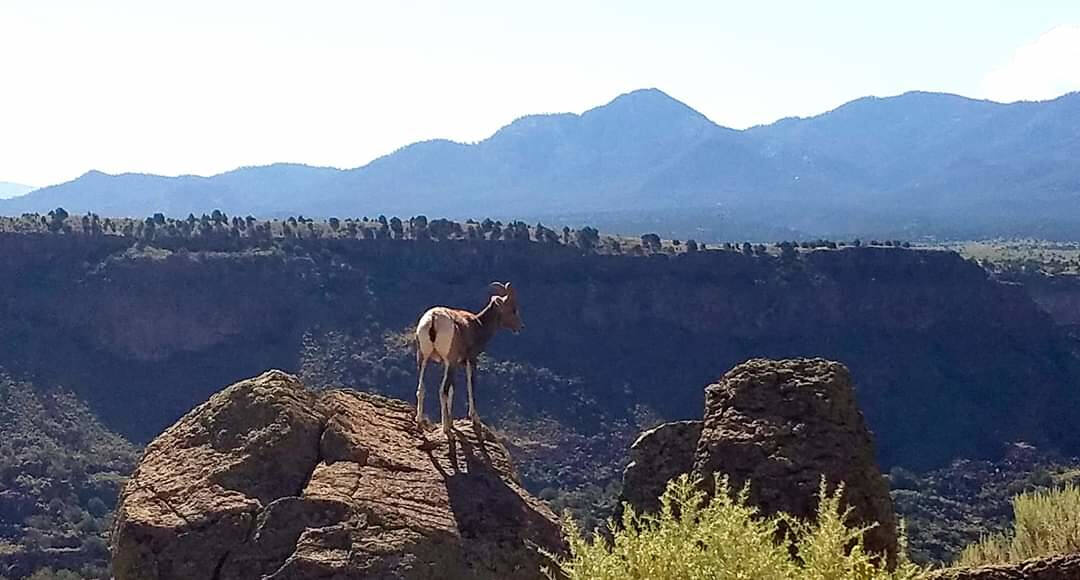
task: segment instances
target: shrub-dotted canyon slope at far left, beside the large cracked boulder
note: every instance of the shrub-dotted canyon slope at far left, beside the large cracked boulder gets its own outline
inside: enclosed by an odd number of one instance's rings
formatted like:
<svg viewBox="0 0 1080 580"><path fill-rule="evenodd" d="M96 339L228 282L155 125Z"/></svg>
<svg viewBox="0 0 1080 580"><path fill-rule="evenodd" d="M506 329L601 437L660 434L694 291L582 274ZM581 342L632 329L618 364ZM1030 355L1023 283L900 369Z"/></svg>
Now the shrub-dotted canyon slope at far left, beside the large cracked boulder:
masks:
<svg viewBox="0 0 1080 580"><path fill-rule="evenodd" d="M0 570L108 578L112 508L137 453L71 393L0 374ZM77 571L33 570L31 562Z"/></svg>

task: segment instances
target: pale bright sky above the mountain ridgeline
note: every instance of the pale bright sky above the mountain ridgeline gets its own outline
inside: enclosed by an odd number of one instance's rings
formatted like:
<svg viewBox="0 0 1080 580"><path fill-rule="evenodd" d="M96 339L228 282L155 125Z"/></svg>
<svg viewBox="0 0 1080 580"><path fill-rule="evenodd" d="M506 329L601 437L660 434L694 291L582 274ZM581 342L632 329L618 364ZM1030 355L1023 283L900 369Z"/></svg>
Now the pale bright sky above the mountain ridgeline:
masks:
<svg viewBox="0 0 1080 580"><path fill-rule="evenodd" d="M354 167L658 87L735 127L1080 90L1076 0L0 0L0 180Z"/></svg>

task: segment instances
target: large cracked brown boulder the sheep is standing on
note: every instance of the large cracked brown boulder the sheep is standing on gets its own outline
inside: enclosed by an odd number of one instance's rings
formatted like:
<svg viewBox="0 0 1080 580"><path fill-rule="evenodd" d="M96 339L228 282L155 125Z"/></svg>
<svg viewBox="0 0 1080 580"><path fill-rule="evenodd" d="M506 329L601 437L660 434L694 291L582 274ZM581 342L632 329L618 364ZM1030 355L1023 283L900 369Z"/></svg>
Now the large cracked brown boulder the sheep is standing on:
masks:
<svg viewBox="0 0 1080 580"><path fill-rule="evenodd" d="M215 394L127 483L117 580L541 578L559 527L505 449L468 421L451 446L413 413L278 370Z"/></svg>

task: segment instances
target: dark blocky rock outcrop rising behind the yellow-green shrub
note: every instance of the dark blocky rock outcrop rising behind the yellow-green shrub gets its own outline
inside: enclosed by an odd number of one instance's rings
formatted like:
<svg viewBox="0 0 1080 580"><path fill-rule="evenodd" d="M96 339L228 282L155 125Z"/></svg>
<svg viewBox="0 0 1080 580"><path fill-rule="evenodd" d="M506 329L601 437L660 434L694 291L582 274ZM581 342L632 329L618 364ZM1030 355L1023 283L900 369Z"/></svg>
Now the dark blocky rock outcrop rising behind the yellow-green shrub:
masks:
<svg viewBox="0 0 1080 580"><path fill-rule="evenodd" d="M896 517L874 443L855 406L848 369L821 359L755 359L705 389L703 422L669 423L644 433L631 450L623 500L656 509L663 482L714 474L733 488L751 483L751 501L765 513L811 517L822 476L843 482L852 523L878 525L867 547L896 554Z"/></svg>

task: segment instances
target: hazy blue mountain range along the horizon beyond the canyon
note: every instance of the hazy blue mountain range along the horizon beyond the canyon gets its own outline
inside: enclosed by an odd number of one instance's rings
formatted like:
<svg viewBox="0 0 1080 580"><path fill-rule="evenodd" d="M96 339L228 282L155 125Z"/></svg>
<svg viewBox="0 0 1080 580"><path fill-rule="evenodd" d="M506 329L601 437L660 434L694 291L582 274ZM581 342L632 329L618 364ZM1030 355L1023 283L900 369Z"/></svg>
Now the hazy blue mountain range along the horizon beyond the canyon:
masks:
<svg viewBox="0 0 1080 580"><path fill-rule="evenodd" d="M591 224L704 241L1069 238L1080 226L1080 93L999 104L912 92L737 131L662 91L428 140L356 168L163 177L90 172L0 214L410 216Z"/></svg>

